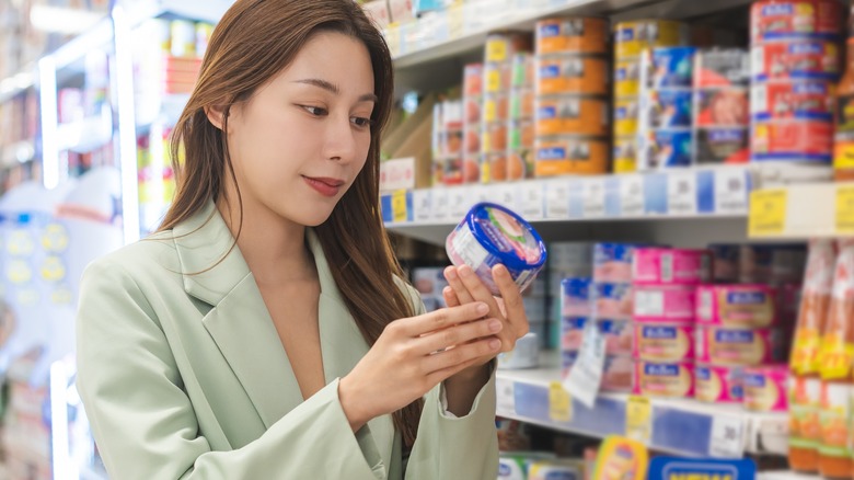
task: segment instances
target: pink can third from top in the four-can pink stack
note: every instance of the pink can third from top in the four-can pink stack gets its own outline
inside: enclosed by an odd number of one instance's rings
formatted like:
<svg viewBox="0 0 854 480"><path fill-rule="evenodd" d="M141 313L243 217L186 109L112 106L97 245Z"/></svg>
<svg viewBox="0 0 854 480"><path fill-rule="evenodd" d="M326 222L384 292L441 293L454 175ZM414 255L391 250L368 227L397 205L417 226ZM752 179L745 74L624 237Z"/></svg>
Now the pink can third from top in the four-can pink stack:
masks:
<svg viewBox="0 0 854 480"><path fill-rule="evenodd" d="M694 324L635 323L636 358L649 362L694 359Z"/></svg>

